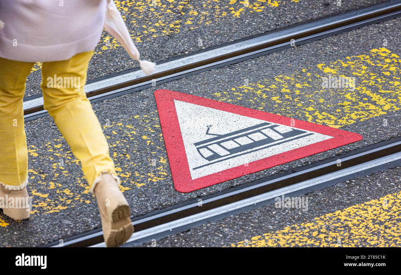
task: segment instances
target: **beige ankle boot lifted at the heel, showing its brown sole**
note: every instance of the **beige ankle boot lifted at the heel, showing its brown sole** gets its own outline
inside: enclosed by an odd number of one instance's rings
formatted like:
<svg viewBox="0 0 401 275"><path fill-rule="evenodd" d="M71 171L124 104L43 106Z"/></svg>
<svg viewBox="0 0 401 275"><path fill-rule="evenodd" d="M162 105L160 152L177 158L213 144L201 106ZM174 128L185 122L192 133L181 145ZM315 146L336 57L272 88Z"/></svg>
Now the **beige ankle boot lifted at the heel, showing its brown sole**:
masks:
<svg viewBox="0 0 401 275"><path fill-rule="evenodd" d="M95 186L103 237L107 247L118 247L134 233L130 207L121 193L117 181L109 173L102 173Z"/></svg>

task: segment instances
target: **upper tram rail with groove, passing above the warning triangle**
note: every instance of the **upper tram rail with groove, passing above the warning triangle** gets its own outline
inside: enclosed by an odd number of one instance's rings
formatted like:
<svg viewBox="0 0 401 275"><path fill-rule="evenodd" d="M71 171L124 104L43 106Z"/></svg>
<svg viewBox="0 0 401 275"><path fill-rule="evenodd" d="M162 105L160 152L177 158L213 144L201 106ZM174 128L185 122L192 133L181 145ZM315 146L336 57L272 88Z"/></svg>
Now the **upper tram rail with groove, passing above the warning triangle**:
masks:
<svg viewBox="0 0 401 275"><path fill-rule="evenodd" d="M86 84L85 92L92 102L113 98L151 87L152 84L161 84L290 48L292 41L295 45L305 44L400 15L401 0L393 0L195 52L158 64L154 74L150 76L146 76L141 70L135 70L99 80ZM23 106L27 121L47 115L47 111L43 109L43 97L26 100Z"/></svg>

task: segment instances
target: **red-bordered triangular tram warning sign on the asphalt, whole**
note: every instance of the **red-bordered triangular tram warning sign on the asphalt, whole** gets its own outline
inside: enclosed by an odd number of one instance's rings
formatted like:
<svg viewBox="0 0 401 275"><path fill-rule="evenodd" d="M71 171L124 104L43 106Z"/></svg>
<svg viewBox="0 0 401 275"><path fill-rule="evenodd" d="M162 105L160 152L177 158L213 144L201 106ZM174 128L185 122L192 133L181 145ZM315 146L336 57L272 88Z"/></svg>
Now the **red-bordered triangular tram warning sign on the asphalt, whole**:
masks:
<svg viewBox="0 0 401 275"><path fill-rule="evenodd" d="M187 193L360 141L356 133L200 96L154 92L174 187Z"/></svg>

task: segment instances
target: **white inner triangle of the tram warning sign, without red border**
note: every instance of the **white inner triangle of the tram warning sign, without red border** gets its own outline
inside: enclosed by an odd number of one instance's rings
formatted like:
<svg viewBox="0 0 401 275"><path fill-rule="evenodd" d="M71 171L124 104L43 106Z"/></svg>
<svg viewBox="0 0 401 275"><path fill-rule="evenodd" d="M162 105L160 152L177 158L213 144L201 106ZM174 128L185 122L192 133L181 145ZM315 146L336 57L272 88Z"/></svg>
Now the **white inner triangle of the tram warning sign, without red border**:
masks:
<svg viewBox="0 0 401 275"><path fill-rule="evenodd" d="M192 179L332 138L180 100L174 100L174 105Z"/></svg>

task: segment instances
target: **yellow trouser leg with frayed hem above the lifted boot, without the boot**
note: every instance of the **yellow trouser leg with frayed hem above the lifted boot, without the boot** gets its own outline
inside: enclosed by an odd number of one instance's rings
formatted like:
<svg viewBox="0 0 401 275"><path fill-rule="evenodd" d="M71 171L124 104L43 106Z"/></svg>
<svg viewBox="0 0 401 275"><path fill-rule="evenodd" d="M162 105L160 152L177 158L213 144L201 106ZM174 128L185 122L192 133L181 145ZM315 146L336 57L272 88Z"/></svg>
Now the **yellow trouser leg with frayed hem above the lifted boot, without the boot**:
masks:
<svg viewBox="0 0 401 275"><path fill-rule="evenodd" d="M69 60L44 62L41 88L45 109L81 161L93 191L93 183L102 172L116 173L109 145L83 89L91 56L92 52L84 52Z"/></svg>

